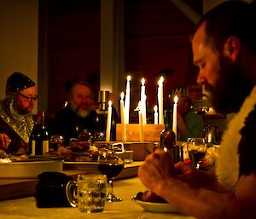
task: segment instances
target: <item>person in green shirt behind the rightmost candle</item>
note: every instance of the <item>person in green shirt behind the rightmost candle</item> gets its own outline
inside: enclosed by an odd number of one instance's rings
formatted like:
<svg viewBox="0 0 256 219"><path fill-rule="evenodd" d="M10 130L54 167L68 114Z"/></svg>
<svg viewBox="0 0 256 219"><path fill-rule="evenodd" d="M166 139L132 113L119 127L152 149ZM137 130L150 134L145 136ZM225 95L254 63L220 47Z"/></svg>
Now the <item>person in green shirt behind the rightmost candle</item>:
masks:
<svg viewBox="0 0 256 219"><path fill-rule="evenodd" d="M189 96L180 96L177 101L177 140L187 141L189 137L204 137L204 120L190 110Z"/></svg>

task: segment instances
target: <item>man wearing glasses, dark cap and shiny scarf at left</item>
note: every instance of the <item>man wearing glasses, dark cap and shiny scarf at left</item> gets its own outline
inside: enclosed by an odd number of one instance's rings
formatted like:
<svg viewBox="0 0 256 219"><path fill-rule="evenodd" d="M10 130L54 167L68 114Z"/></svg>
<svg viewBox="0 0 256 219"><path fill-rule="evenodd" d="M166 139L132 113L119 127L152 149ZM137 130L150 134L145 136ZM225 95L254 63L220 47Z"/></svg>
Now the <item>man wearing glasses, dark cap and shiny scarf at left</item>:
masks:
<svg viewBox="0 0 256 219"><path fill-rule="evenodd" d="M6 153L27 153L37 101L36 84L20 72L7 79L6 97L0 101L0 149Z"/></svg>

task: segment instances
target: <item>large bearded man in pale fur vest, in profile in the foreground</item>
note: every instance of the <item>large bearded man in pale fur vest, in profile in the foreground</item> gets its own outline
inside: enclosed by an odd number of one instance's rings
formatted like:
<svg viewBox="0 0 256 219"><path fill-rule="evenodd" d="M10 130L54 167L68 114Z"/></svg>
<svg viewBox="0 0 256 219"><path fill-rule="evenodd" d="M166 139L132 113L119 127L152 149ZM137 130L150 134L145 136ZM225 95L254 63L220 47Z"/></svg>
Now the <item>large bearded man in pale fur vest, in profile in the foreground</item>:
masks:
<svg viewBox="0 0 256 219"><path fill-rule="evenodd" d="M173 164L156 150L139 168L148 190L196 218L256 218L255 7L244 1L219 4L191 37L197 82L205 84L215 110L236 112L218 150L215 172Z"/></svg>

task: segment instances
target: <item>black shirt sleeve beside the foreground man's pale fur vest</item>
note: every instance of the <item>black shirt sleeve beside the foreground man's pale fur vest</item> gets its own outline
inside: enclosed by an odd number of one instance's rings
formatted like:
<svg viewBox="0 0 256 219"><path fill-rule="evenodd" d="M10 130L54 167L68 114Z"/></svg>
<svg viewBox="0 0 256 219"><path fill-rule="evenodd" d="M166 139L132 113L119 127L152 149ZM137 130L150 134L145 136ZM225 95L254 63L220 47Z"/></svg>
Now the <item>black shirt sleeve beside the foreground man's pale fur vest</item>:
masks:
<svg viewBox="0 0 256 219"><path fill-rule="evenodd" d="M245 126L241 129L241 141L238 146L240 176L256 172L256 105L245 120Z"/></svg>

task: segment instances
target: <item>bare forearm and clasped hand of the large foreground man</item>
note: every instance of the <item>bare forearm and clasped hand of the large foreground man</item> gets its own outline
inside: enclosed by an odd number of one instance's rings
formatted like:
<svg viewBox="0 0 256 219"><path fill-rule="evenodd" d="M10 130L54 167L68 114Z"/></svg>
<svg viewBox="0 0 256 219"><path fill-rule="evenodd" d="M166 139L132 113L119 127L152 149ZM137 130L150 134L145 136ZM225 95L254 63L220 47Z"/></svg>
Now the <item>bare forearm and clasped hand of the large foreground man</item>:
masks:
<svg viewBox="0 0 256 219"><path fill-rule="evenodd" d="M170 158L167 153L155 151L146 158L138 173L145 187L172 203L177 210L202 219L256 218L255 174L241 176L236 193L233 193L220 190L218 183L214 182L214 177L212 186L207 187L207 172L204 174L190 170L190 174L194 176L189 177L189 170L185 168L183 175L188 176L181 177L181 169L178 168L177 173L172 161L168 160ZM198 182L198 186L195 182Z"/></svg>

